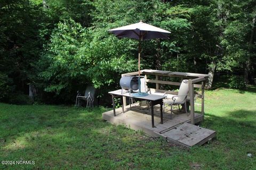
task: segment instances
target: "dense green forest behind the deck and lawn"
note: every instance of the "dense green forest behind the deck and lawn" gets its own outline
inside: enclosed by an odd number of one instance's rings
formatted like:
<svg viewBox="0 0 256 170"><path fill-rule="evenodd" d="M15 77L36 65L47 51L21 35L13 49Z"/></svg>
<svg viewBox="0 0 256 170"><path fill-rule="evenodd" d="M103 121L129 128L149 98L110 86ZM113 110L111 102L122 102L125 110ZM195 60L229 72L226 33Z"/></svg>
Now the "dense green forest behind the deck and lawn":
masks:
<svg viewBox="0 0 256 170"><path fill-rule="evenodd" d="M253 0L1 0L0 16L2 102L33 102L29 86L46 104L74 103L88 84L118 89L138 70L138 41L107 30L140 20L171 32L143 41L141 69L210 74L209 89L255 83Z"/></svg>

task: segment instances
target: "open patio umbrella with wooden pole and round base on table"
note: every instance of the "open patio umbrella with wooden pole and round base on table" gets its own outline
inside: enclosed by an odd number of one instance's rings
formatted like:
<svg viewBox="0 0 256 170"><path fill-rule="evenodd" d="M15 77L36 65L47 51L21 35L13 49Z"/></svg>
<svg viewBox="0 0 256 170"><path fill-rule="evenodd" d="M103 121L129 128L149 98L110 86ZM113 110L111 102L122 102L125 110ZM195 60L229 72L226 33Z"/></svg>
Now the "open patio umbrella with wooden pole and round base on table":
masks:
<svg viewBox="0 0 256 170"><path fill-rule="evenodd" d="M126 25L115 29L108 30L116 35L118 38L133 38L139 40L139 92L133 94L133 96L147 96L145 92L140 90L140 53L141 53L141 41L147 39L168 39L169 31L161 28L154 27L153 25L143 23L141 20L138 23Z"/></svg>

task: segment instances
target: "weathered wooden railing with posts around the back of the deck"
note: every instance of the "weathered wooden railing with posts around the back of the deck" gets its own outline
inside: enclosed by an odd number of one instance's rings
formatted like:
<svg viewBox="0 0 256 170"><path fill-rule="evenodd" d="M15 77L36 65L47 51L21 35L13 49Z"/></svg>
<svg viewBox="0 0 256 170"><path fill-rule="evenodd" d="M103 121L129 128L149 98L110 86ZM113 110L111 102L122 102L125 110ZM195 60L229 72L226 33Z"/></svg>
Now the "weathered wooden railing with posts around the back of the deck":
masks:
<svg viewBox="0 0 256 170"><path fill-rule="evenodd" d="M159 80L159 76L165 76L165 77L180 77L188 79L188 86L189 86L189 98L190 98L190 123L195 124L195 92L194 88L200 88L202 89L202 94L198 95L198 98L202 99L202 105L201 105L201 114L204 115L204 89L205 89L205 81L207 80L207 77L209 77L208 74L198 74L198 73L185 73L185 72L172 72L172 71L162 71L162 70L141 70L140 74L145 75L146 79L146 86L147 83L156 83L156 90L164 92L165 90L159 89L159 84L169 84L174 86L180 86L180 82L173 82L173 81L162 81ZM130 75L139 75L139 72L132 72L132 73L125 73L122 74L123 76L130 76ZM155 80L153 79L147 79L147 75L155 75ZM200 84L198 84L200 83ZM123 98L124 105L126 105L126 97Z"/></svg>

